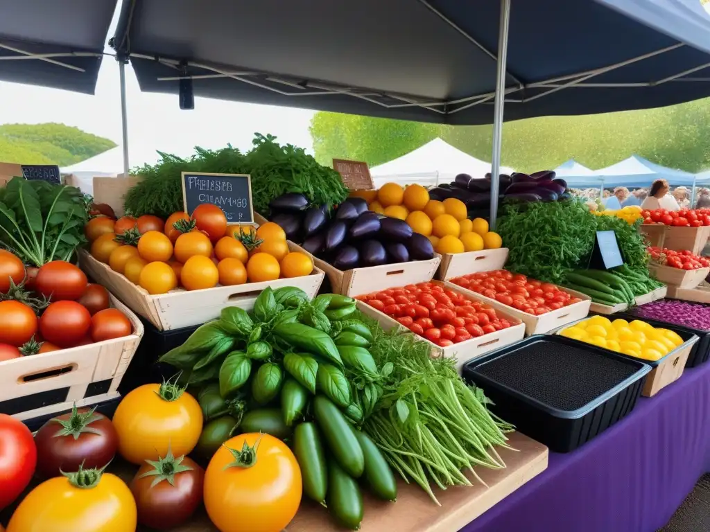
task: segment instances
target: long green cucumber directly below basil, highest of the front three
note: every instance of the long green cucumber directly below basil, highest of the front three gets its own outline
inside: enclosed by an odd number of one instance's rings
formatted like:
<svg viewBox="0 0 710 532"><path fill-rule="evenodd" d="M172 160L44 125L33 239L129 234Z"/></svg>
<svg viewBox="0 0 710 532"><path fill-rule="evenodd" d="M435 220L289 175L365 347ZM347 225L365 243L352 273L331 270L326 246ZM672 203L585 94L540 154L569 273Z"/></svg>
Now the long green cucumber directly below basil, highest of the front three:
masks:
<svg viewBox="0 0 710 532"><path fill-rule="evenodd" d="M334 458L351 477L361 477L365 470L365 455L345 416L323 395L317 395L313 400L313 414Z"/></svg>

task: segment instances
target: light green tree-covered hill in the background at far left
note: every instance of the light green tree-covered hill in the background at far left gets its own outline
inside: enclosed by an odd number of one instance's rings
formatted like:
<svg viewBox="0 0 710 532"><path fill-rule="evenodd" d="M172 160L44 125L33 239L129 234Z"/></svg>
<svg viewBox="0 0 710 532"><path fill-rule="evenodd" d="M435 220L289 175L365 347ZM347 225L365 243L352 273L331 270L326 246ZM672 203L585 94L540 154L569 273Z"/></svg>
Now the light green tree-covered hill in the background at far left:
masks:
<svg viewBox="0 0 710 532"><path fill-rule="evenodd" d="M0 161L68 166L114 148L116 143L60 123L0 126Z"/></svg>

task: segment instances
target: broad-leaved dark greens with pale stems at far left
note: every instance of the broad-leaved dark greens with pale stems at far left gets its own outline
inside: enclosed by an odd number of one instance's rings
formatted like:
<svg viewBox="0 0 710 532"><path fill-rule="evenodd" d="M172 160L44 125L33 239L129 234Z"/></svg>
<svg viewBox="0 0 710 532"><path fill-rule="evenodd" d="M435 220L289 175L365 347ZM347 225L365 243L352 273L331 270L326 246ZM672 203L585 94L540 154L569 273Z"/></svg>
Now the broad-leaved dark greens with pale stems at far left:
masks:
<svg viewBox="0 0 710 532"><path fill-rule="evenodd" d="M27 265L72 260L88 219L76 187L14 177L0 189L0 243Z"/></svg>

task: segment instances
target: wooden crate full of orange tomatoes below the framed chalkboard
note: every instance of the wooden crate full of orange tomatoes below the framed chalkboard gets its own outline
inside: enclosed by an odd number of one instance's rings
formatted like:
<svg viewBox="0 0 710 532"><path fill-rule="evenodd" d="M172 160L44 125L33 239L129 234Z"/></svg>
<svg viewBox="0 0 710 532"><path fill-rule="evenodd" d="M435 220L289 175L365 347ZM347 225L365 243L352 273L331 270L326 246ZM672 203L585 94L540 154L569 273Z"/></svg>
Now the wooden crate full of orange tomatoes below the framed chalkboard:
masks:
<svg viewBox="0 0 710 532"><path fill-rule="evenodd" d="M82 269L161 331L212 320L225 306L251 309L268 286L315 297L324 277L278 224L227 225L213 204L167 220L97 216L85 234Z"/></svg>

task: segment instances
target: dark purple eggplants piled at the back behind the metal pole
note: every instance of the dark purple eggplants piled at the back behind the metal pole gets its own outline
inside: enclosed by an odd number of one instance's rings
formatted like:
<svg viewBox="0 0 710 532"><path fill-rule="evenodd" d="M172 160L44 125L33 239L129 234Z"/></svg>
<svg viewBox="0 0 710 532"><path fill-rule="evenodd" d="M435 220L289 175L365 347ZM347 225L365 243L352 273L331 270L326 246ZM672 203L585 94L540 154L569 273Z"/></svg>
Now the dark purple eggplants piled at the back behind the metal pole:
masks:
<svg viewBox="0 0 710 532"><path fill-rule="evenodd" d="M513 172L501 174L498 199L503 201L557 201L569 198L567 183L555 179L555 172L542 170L533 174ZM469 209L469 218L485 213L491 204L491 174L485 179L473 179L469 174L458 174L450 184L440 184L429 191L431 199L442 201L457 198Z"/></svg>

